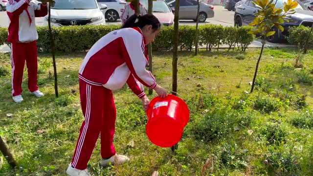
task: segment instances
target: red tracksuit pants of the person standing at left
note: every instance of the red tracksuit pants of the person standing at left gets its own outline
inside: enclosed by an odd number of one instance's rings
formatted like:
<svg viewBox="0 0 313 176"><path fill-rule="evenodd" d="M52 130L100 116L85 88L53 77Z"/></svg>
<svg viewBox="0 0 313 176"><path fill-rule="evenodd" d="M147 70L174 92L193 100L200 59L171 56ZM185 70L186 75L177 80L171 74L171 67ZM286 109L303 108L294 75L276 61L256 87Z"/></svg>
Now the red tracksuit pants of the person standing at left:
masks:
<svg viewBox="0 0 313 176"><path fill-rule="evenodd" d="M27 66L28 89L33 92L38 90L37 85L37 42L11 44L11 66L12 66L12 95L22 94L22 80L24 66Z"/></svg>

